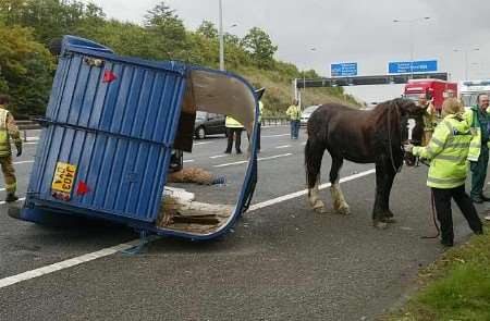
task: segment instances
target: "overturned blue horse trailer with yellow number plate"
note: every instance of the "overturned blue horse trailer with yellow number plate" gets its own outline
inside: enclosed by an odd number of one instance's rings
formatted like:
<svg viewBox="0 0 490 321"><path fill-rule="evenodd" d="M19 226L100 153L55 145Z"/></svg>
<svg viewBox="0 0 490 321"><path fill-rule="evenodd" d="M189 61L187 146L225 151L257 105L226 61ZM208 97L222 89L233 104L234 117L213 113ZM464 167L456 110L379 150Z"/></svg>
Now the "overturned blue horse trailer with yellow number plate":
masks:
<svg viewBox="0 0 490 321"><path fill-rule="evenodd" d="M192 151L197 110L231 115L250 135L238 195L234 203L211 207L217 218L201 215L199 224L208 224L206 229L194 229L185 212L179 213L184 219L179 222L164 213L171 152ZM120 57L99 44L65 36L40 119L44 129L26 200L15 217L41 224L87 217L159 235L220 236L247 210L254 194L257 119L257 97L240 76L176 61ZM193 218L199 217L199 207L191 210Z"/></svg>

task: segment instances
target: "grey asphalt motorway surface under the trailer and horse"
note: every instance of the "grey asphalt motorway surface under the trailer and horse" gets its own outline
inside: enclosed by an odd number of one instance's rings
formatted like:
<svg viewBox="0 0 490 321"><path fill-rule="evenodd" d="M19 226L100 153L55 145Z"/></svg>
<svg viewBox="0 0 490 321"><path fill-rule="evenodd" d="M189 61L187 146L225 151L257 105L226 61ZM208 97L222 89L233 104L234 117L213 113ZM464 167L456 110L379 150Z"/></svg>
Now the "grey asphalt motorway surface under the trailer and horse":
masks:
<svg viewBox="0 0 490 321"><path fill-rule="evenodd" d="M372 320L396 306L419 268L441 254L431 222L427 168L404 168L391 208L397 222L371 226L372 164L346 162L341 184L352 214L318 214L305 196L305 134L262 129L259 182L253 203L235 229L212 242L158 238L136 256L121 252L0 287L0 320ZM243 149L247 139L244 137ZM15 159L25 194L37 145ZM181 184L198 200L233 203L246 156L224 156L223 137L196 140L185 165L228 177L226 186ZM330 157L323 158L322 183ZM0 187L3 186L3 183ZM2 189L0 189L2 190ZM0 197L4 192L0 192ZM331 208L328 189L321 192ZM275 201L265 205L270 199ZM482 213L485 207L479 207ZM91 254L137 235L128 229L86 223L64 229L14 220L0 203L2 279ZM470 235L454 210L456 243Z"/></svg>

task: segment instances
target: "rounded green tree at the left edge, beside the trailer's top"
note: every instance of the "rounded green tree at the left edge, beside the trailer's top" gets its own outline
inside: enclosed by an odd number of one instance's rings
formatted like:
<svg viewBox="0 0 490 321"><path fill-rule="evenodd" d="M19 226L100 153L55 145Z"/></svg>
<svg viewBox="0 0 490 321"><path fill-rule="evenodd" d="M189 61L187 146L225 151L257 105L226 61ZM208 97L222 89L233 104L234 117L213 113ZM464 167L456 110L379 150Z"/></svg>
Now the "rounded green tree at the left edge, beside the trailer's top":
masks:
<svg viewBox="0 0 490 321"><path fill-rule="evenodd" d="M0 90L12 97L14 114L44 113L52 82L49 51L27 28L0 24Z"/></svg>

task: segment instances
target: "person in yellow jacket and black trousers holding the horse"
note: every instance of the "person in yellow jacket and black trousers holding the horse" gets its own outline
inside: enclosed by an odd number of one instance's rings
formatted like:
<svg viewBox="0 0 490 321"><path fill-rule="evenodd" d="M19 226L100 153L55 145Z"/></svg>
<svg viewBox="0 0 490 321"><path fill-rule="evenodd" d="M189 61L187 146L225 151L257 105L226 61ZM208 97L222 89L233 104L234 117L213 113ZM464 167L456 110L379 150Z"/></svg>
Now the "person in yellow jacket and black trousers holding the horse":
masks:
<svg viewBox="0 0 490 321"><path fill-rule="evenodd" d="M473 134L464 115L464 108L457 99L450 98L442 106L442 115L444 119L436 127L429 145L407 145L405 150L430 160L427 186L431 187L441 224L441 244L453 246L451 199L454 199L475 234L483 234L483 229L475 206L465 192L467 157Z"/></svg>

